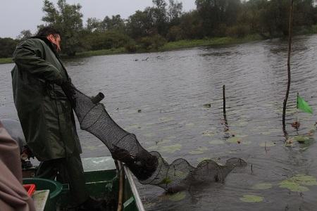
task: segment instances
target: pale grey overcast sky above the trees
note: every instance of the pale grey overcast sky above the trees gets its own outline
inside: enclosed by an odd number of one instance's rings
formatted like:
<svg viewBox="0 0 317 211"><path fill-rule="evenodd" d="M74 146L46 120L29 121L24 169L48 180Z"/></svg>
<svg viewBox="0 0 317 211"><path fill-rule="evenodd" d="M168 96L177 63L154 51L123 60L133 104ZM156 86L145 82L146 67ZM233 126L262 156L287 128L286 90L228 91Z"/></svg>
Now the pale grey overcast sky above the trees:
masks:
<svg viewBox="0 0 317 211"><path fill-rule="evenodd" d="M56 5L57 0L51 0ZM143 11L147 6L153 6L152 0L66 0L68 4L80 4L84 15L84 24L87 18L104 19L106 15L120 14L128 18L137 10ZM179 0L183 10L195 8L195 0ZM168 0L166 0L168 2ZM42 0L8 0L1 1L0 6L0 37L16 38L22 30L31 30L35 33L37 25L41 24Z"/></svg>

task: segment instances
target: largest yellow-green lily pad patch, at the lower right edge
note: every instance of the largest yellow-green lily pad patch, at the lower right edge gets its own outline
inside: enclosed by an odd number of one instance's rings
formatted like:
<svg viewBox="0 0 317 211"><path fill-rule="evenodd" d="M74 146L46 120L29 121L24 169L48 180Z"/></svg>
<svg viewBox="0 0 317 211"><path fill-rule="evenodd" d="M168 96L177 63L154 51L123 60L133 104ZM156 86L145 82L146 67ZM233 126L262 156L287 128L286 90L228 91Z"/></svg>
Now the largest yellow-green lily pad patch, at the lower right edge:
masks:
<svg viewBox="0 0 317 211"><path fill-rule="evenodd" d="M315 177L304 174L296 174L293 177L285 179L279 183L280 188L287 188L290 191L304 192L309 191L306 186L317 186Z"/></svg>

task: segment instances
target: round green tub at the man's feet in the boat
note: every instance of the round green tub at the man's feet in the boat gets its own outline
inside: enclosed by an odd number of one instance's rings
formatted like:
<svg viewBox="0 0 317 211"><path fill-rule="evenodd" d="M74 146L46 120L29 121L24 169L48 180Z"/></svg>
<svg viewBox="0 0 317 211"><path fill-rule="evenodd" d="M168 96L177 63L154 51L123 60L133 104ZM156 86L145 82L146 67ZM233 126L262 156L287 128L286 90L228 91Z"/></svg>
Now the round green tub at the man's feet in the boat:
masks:
<svg viewBox="0 0 317 211"><path fill-rule="evenodd" d="M63 186L58 181L42 178L25 178L23 184L35 184L37 191L49 190L49 199L45 205L45 211L56 211L56 203L61 197Z"/></svg>

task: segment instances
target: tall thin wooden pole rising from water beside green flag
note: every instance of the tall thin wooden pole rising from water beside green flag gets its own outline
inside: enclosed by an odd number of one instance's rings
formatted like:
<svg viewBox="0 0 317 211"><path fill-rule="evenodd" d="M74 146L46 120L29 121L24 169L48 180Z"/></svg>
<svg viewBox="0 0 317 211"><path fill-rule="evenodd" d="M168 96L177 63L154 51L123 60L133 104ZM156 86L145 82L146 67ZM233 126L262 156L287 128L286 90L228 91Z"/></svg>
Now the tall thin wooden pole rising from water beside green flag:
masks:
<svg viewBox="0 0 317 211"><path fill-rule="evenodd" d="M287 99L288 95L290 94L290 83L291 83L291 72L290 72L290 54L292 51L292 31L293 31L293 0L290 0L290 22L288 27L288 54L287 54L287 91L284 98L283 103L283 114L282 114L282 124L283 124L283 132L287 134L285 130L285 113L286 113L286 106L287 106Z"/></svg>

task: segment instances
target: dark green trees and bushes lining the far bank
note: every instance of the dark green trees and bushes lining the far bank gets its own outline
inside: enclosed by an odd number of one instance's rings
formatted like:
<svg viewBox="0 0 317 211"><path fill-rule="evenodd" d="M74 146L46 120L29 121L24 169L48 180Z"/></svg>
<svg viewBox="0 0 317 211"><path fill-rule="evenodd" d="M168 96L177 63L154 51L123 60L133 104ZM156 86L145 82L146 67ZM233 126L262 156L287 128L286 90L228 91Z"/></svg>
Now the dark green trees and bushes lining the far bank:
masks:
<svg viewBox="0 0 317 211"><path fill-rule="evenodd" d="M135 11L127 19L106 15L88 18L84 25L80 4L44 0L44 25L62 34L63 53L124 48L126 52L157 51L168 41L244 37L264 39L288 34L289 0L196 0L196 9L182 11L178 0L152 0L153 6ZM311 0L294 0L294 33L304 34L317 24ZM39 25L38 28L44 25ZM17 39L0 38L0 58L11 57L15 45L32 34L23 30Z"/></svg>

